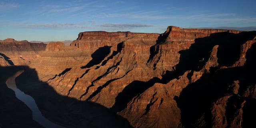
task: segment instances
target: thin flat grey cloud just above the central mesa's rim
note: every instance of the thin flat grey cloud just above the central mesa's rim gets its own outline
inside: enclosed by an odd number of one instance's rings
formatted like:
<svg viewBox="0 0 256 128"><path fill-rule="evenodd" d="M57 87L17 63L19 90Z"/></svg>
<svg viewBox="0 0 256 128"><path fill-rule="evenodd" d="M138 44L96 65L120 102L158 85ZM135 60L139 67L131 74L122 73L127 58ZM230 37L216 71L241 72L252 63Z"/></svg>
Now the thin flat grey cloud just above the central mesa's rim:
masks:
<svg viewBox="0 0 256 128"><path fill-rule="evenodd" d="M102 24L101 27L108 28L110 30L123 30L123 29L132 29L132 28L141 28L141 27L152 27L148 24Z"/></svg>

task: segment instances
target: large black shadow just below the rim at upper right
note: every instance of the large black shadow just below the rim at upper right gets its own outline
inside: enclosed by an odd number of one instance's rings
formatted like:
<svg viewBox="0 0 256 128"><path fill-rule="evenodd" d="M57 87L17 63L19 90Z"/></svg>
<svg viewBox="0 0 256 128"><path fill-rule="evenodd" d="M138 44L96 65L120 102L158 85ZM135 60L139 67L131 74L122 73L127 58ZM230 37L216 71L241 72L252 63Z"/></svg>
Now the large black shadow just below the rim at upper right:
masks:
<svg viewBox="0 0 256 128"><path fill-rule="evenodd" d="M239 58L241 45L248 40L252 40L255 36L256 31L239 34L219 32L204 38L197 38L188 50L179 51L179 63L174 66L174 71L166 71L166 74L162 75L162 82L166 84L188 70L201 70L210 57L210 51L216 45L219 46L217 52L219 65L231 66Z"/></svg>

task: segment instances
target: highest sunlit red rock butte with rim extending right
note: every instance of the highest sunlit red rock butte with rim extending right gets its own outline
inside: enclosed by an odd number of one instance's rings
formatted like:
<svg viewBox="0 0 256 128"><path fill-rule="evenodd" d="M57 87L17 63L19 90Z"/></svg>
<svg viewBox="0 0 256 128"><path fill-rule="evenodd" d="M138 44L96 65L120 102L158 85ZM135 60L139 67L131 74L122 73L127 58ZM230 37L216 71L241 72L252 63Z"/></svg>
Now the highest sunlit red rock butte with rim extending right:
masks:
<svg viewBox="0 0 256 128"><path fill-rule="evenodd" d="M169 26L166 32L160 34L158 40L156 41L156 45L151 47L151 57L147 62L147 66L149 68L157 69L162 73L164 73L165 70L172 71L175 68L174 66L179 63L179 52L188 50L192 44L200 43L203 49L204 45L211 45L214 43L211 39L203 39L210 37L211 34L238 34L240 32L241 31L238 30L181 29L176 26ZM198 49L198 51L203 51L202 49Z"/></svg>

